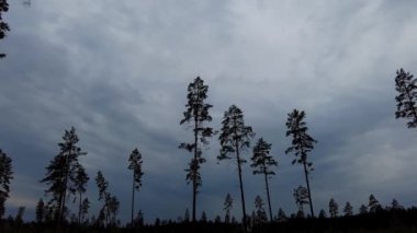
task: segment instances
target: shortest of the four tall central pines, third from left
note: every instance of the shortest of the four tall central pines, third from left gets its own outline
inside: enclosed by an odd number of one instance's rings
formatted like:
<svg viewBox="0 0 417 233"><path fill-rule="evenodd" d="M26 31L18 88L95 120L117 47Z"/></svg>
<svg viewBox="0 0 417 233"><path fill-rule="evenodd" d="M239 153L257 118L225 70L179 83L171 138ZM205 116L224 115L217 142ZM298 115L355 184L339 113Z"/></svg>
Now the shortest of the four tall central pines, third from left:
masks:
<svg viewBox="0 0 417 233"><path fill-rule="evenodd" d="M253 155L251 158L252 164L250 166L256 168L253 170L253 174L261 174L264 176L269 218L270 218L270 221L272 221L272 208L271 208L271 198L269 195L268 178L271 175L275 175L275 173L271 171L270 167L278 166L278 162L273 159L272 155L269 155L270 151L271 151L271 144L266 142L262 138L260 138L257 144L253 147Z"/></svg>

